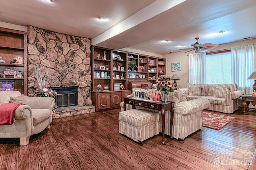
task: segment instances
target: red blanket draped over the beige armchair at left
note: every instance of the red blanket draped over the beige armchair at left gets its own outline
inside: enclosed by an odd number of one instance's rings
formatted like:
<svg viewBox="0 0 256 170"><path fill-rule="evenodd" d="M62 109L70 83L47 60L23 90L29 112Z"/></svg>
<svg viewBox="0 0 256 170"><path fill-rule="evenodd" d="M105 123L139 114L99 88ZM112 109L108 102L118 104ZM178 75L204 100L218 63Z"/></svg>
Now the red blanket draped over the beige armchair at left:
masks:
<svg viewBox="0 0 256 170"><path fill-rule="evenodd" d="M0 104L0 125L11 125L14 121L14 111L21 103Z"/></svg>

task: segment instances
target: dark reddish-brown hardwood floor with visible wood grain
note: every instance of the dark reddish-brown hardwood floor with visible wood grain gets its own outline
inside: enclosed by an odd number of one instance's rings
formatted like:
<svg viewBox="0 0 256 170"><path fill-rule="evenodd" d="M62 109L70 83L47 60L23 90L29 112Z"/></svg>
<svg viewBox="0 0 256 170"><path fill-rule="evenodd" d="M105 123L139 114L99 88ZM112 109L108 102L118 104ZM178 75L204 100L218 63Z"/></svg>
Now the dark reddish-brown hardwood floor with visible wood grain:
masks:
<svg viewBox="0 0 256 170"><path fill-rule="evenodd" d="M24 147L18 139L0 138L0 169L246 170L251 163L256 111L236 111L221 130L203 127L184 141L166 136L162 145L161 135L141 144L118 133L119 110L54 119Z"/></svg>

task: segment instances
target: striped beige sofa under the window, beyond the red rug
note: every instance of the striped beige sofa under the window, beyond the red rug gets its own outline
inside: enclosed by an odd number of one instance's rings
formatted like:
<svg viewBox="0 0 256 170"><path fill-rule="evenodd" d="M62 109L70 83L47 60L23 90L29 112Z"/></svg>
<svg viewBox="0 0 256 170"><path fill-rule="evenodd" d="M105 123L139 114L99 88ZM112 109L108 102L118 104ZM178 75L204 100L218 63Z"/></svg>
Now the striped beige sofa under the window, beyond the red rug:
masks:
<svg viewBox="0 0 256 170"><path fill-rule="evenodd" d="M188 100L205 98L210 101L206 109L223 113L233 113L238 109L238 98L244 92L237 90L237 84L187 84L187 88L180 88L186 92Z"/></svg>

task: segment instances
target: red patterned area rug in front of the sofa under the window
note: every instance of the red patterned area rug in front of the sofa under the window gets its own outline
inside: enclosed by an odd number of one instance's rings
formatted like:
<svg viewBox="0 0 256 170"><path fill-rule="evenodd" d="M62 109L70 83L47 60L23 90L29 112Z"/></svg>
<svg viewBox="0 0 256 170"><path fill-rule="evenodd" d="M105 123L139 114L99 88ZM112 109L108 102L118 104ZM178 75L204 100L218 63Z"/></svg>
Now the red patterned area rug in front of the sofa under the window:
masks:
<svg viewBox="0 0 256 170"><path fill-rule="evenodd" d="M212 129L220 130L222 129L222 127L230 123L233 119L235 118L232 116L218 115L207 111L202 111L203 126Z"/></svg>

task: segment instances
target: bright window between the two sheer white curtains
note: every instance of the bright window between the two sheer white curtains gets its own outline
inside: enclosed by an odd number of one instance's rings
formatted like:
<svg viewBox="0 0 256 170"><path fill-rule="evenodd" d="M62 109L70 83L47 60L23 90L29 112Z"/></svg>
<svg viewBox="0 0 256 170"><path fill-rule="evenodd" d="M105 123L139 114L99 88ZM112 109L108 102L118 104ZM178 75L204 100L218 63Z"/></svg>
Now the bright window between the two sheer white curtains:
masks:
<svg viewBox="0 0 256 170"><path fill-rule="evenodd" d="M231 50L206 53L206 84L231 84Z"/></svg>

